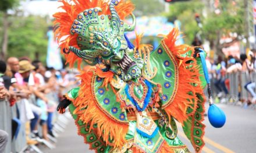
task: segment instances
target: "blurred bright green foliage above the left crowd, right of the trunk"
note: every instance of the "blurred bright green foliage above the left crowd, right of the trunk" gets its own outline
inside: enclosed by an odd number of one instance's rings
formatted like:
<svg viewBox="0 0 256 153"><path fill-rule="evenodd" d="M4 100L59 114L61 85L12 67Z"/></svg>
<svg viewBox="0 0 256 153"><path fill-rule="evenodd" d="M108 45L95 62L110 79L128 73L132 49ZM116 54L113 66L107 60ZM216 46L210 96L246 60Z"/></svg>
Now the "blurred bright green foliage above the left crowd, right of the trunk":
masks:
<svg viewBox="0 0 256 153"><path fill-rule="evenodd" d="M46 20L39 16L12 16L9 27L8 56L29 56L34 59L35 53L45 61L47 54Z"/></svg>

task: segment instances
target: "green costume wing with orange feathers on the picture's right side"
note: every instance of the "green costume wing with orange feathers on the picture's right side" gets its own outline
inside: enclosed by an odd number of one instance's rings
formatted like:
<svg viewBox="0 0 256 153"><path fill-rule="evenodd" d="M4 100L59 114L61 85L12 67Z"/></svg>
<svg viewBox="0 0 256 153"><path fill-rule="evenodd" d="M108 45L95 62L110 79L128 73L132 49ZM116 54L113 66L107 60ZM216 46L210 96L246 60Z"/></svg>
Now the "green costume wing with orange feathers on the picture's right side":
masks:
<svg viewBox="0 0 256 153"><path fill-rule="evenodd" d="M184 133L195 151L204 146L204 87L206 85L200 57L194 57L194 48L176 45L179 31L174 28L161 44L151 52L151 70L157 73L161 109L170 119L182 123Z"/></svg>

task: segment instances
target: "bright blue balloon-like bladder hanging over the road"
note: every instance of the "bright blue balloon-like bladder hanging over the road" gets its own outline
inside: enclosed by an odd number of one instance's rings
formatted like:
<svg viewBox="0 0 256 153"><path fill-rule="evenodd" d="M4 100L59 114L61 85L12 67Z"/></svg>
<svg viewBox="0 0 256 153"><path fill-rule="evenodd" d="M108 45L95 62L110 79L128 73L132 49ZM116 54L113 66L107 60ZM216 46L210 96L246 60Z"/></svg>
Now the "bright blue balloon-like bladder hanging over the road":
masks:
<svg viewBox="0 0 256 153"><path fill-rule="evenodd" d="M221 108L217 107L215 104L212 104L208 109L208 119L212 126L215 128L221 128L223 125L225 125L226 115Z"/></svg>

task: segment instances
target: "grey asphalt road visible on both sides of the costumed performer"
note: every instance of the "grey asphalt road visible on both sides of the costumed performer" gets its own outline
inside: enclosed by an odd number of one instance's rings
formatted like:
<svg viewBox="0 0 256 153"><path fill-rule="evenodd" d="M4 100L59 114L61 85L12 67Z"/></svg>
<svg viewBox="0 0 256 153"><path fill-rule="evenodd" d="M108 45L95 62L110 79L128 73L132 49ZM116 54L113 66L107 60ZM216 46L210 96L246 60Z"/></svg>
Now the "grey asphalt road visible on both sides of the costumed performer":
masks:
<svg viewBox="0 0 256 153"><path fill-rule="evenodd" d="M217 104L226 113L226 124L223 128L213 128L208 118L205 118L205 147L202 152L256 152L256 110L234 105ZM207 110L208 108L206 108ZM88 152L88 145L83 138L77 136L73 121L69 122L65 133L60 134L54 150L44 150L49 153ZM189 140L184 136L179 126L179 138L194 152Z"/></svg>

